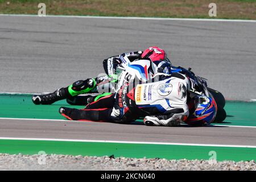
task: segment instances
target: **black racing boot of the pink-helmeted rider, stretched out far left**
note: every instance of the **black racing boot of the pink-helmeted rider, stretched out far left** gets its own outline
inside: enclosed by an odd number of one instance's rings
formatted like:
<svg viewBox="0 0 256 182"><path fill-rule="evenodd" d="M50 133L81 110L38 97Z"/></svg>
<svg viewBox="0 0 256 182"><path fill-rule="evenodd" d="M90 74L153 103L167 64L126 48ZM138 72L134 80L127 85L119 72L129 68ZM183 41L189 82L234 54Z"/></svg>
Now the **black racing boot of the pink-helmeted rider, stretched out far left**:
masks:
<svg viewBox="0 0 256 182"><path fill-rule="evenodd" d="M67 98L67 89L60 88L55 90L55 92L48 93L48 94L40 94L32 96L32 102L36 105L50 105L56 101L63 100Z"/></svg>

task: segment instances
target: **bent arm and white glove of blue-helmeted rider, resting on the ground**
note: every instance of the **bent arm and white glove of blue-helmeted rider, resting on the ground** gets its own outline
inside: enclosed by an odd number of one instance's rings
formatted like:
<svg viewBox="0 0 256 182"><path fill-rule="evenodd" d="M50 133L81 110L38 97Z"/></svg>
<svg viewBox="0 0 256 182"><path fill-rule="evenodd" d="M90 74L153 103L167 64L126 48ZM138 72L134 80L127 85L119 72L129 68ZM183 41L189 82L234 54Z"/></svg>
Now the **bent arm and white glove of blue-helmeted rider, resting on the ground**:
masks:
<svg viewBox="0 0 256 182"><path fill-rule="evenodd" d="M187 119L189 114L188 107L170 110L168 114L146 116L144 123L151 122L154 126L177 126Z"/></svg>

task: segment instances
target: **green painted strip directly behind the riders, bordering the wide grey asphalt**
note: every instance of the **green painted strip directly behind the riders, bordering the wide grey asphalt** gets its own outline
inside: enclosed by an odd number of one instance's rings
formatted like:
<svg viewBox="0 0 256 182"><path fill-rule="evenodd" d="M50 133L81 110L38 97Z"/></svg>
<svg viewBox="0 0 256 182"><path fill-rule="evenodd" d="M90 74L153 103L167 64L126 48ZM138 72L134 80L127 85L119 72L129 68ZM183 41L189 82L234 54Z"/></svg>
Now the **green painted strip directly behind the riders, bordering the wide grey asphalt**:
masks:
<svg viewBox="0 0 256 182"><path fill-rule="evenodd" d="M60 106L84 107L68 105L65 100L52 105L34 105L29 94L1 94L0 118L65 119L59 114ZM217 125L256 126L256 102L227 101L225 110L225 121Z"/></svg>

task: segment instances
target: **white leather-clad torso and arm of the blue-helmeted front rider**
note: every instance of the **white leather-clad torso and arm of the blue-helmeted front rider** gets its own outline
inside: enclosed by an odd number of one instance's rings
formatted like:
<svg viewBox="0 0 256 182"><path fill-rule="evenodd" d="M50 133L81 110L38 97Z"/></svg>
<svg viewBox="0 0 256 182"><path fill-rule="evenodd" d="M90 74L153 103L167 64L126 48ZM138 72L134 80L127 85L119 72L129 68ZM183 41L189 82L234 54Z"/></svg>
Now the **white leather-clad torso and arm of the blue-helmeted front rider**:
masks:
<svg viewBox="0 0 256 182"><path fill-rule="evenodd" d="M179 73L169 78L137 85L135 102L139 109L149 115L144 117L146 125L174 126L185 121L189 115L187 97L188 78Z"/></svg>

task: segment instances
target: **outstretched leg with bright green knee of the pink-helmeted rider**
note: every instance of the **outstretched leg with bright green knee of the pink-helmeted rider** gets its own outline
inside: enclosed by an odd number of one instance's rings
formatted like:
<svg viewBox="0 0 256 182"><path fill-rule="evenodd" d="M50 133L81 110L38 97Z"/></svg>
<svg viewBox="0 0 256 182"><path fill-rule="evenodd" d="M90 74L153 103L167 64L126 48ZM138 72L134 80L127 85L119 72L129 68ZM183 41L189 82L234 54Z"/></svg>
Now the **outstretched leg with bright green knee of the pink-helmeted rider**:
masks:
<svg viewBox="0 0 256 182"><path fill-rule="evenodd" d="M65 98L72 98L84 93L97 93L97 78L79 80L66 88L57 89L55 92L34 95L32 96L32 101L36 105L48 105L53 104L56 101L63 100Z"/></svg>

